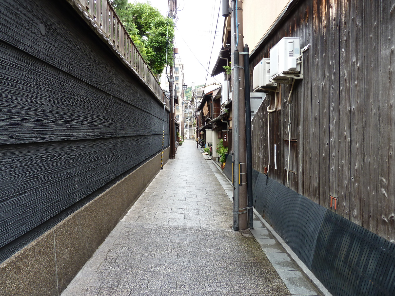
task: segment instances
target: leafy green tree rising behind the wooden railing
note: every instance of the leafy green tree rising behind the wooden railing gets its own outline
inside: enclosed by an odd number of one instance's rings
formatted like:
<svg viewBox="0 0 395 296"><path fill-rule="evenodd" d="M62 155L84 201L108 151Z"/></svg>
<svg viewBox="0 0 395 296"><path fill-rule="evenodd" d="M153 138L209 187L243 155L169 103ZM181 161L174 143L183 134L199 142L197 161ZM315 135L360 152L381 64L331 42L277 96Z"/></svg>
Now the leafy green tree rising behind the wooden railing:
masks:
<svg viewBox="0 0 395 296"><path fill-rule="evenodd" d="M173 19L164 17L148 2L131 4L128 0L111 0L111 4L152 72L162 74L166 47L167 64L173 64Z"/></svg>

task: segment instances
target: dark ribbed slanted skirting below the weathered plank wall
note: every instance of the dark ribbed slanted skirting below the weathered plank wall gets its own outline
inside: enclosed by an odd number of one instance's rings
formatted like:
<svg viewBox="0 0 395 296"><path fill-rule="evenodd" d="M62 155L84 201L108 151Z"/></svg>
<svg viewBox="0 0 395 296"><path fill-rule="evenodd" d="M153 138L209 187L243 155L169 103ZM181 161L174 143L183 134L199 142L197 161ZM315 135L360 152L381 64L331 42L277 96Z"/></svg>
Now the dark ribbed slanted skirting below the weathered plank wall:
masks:
<svg viewBox="0 0 395 296"><path fill-rule="evenodd" d="M395 244L253 170L254 208L336 296L393 296Z"/></svg>

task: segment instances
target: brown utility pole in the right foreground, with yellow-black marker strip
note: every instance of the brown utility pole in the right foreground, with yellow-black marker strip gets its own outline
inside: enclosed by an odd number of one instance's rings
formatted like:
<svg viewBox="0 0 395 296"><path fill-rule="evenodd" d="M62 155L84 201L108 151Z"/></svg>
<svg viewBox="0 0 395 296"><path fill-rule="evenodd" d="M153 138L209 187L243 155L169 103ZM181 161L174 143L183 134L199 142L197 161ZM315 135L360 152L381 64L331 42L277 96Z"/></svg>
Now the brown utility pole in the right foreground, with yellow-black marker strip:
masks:
<svg viewBox="0 0 395 296"><path fill-rule="evenodd" d="M245 81L243 52L243 2L232 0L232 123L233 123L233 230L247 229Z"/></svg>

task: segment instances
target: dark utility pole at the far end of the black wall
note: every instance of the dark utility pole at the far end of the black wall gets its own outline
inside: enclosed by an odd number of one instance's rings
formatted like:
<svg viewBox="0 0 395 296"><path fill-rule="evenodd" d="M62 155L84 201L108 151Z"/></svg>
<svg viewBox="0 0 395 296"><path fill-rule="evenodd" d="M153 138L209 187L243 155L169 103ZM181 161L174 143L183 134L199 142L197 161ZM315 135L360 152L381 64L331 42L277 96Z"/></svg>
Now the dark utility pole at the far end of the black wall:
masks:
<svg viewBox="0 0 395 296"><path fill-rule="evenodd" d="M169 17L174 19L177 15L176 6L177 0L168 0ZM174 39L172 41L174 48ZM170 80L169 80L169 92L170 92L170 159L175 159L175 96L177 92L174 89L174 51L173 51L173 63L170 65Z"/></svg>

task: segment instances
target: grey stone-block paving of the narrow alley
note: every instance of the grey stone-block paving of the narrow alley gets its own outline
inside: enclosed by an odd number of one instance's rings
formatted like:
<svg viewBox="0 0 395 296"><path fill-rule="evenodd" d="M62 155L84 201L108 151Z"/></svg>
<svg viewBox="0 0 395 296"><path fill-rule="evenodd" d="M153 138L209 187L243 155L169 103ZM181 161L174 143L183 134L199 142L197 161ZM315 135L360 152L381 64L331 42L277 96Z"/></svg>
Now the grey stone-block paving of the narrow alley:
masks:
<svg viewBox="0 0 395 296"><path fill-rule="evenodd" d="M290 295L195 143L154 178L62 296Z"/></svg>

